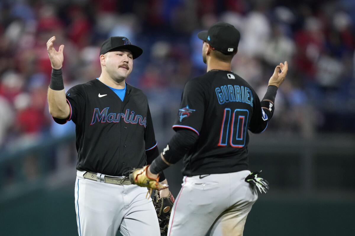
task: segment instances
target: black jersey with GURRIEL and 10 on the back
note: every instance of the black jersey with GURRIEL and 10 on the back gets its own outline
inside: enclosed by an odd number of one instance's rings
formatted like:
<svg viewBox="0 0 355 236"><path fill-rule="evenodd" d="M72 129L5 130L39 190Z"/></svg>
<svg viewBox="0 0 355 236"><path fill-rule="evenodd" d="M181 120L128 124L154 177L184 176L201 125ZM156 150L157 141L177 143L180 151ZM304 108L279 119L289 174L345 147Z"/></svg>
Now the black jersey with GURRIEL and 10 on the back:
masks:
<svg viewBox="0 0 355 236"><path fill-rule="evenodd" d="M199 136L185 155L187 176L248 169L248 129L263 132L268 116L253 88L241 77L212 70L189 80L173 126L191 129Z"/></svg>

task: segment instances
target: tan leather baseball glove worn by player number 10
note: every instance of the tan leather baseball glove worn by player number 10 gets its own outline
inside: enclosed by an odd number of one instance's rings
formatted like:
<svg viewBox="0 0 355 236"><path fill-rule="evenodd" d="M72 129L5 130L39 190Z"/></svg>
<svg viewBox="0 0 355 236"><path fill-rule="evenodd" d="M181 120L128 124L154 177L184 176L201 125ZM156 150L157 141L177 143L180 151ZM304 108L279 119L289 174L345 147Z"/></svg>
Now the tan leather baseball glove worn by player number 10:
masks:
<svg viewBox="0 0 355 236"><path fill-rule="evenodd" d="M147 176L148 167L149 165L133 169L129 175L131 183L141 187L147 187L150 190L162 190L168 188L168 185L159 182L159 177L157 179L152 179Z"/></svg>

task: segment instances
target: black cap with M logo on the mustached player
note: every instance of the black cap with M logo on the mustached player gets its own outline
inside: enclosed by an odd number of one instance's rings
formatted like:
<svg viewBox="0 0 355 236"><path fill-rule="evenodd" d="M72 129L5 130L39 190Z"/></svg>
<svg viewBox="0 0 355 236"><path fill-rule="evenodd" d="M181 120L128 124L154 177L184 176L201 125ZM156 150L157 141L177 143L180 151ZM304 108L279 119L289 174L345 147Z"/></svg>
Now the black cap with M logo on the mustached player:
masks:
<svg viewBox="0 0 355 236"><path fill-rule="evenodd" d="M130 50L132 52L133 59L136 59L143 53L142 48L136 45L132 45L131 41L126 37L115 36L105 40L101 46L100 55L111 51L118 51L120 49Z"/></svg>

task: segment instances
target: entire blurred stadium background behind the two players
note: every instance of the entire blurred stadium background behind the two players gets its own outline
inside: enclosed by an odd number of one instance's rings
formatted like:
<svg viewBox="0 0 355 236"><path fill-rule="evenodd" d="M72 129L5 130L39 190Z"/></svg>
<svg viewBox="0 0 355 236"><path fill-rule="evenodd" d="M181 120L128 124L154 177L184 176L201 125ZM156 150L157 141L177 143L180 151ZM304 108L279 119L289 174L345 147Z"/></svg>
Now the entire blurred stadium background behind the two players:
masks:
<svg viewBox="0 0 355 236"><path fill-rule="evenodd" d="M109 36L141 46L127 82L148 96L160 150L189 78L206 70L196 34L241 31L233 71L262 97L289 62L250 168L271 183L245 235L355 235L354 0L0 0L0 235L77 235L75 126L53 122L45 43L65 45L66 90L99 76ZM114 137L112 137L114 138ZM166 171L176 196L181 165Z"/></svg>

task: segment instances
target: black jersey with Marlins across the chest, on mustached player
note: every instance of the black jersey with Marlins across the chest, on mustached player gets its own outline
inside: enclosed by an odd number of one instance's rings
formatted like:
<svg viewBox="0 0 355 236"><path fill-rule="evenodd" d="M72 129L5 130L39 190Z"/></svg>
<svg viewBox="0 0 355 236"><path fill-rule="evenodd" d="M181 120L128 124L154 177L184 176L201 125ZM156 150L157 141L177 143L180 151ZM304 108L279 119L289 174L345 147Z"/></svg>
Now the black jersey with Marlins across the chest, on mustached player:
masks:
<svg viewBox="0 0 355 236"><path fill-rule="evenodd" d="M76 168L121 176L146 164L146 151L157 149L146 95L126 84L123 102L98 79L66 93L76 124ZM54 119L57 123L66 120Z"/></svg>

